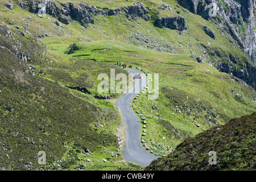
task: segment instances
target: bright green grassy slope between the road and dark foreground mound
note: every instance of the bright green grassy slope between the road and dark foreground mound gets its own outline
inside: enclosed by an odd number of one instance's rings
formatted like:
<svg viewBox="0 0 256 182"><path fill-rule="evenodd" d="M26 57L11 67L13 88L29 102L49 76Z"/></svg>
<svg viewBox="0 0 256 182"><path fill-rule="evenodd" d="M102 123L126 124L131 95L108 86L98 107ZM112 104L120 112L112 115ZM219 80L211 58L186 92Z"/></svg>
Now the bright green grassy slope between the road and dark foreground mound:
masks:
<svg viewBox="0 0 256 182"><path fill-rule="evenodd" d="M101 60L98 57L104 55L102 61L108 63L113 60L130 60L127 61L128 65L141 67L150 73L159 73L158 100L150 101L147 94L142 94L132 102L134 111L138 110L140 114L147 116L147 132L142 140L154 154L166 155L185 138L195 136L210 127L223 125L233 117L251 113L256 109L255 102L250 100L255 94L252 89L233 82L232 76L197 63L189 55L138 49L138 46L125 46L124 43L114 40L79 45L81 49L71 55L94 53L94 59L98 60ZM88 56L85 57L89 59ZM243 96L238 99L236 94ZM160 113L151 113L151 107L155 105ZM176 106L181 113L177 112ZM175 130L170 131L170 127Z"/></svg>

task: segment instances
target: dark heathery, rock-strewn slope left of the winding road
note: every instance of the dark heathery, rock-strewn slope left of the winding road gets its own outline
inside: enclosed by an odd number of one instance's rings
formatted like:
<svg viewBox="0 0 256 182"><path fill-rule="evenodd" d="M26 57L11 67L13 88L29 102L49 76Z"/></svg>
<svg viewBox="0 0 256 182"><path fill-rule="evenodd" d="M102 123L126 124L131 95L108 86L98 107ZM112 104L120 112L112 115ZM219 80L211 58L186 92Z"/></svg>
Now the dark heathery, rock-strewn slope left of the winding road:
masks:
<svg viewBox="0 0 256 182"><path fill-rule="evenodd" d="M4 22L0 38L0 168L100 169L108 168L102 159L119 159L121 117L96 99L97 72L114 66L48 52L27 31ZM46 152L46 166L38 164L39 151Z"/></svg>

